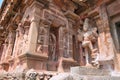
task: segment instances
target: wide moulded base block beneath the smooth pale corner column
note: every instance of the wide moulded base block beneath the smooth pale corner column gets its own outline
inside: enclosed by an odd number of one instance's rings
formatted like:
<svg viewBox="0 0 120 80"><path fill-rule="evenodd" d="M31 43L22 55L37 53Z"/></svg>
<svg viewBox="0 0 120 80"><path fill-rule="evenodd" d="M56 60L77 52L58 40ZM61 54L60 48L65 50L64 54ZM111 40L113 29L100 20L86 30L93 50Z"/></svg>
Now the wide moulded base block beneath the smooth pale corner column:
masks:
<svg viewBox="0 0 120 80"><path fill-rule="evenodd" d="M19 56L20 62L25 69L46 70L46 55L25 53Z"/></svg>

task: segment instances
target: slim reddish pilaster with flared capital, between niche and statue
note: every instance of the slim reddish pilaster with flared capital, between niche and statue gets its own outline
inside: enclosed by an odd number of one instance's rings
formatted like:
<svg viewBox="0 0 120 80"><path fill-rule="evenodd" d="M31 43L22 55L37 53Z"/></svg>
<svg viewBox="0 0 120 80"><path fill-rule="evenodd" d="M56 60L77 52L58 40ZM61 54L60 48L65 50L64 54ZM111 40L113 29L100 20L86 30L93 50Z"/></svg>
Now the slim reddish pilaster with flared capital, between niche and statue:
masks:
<svg viewBox="0 0 120 80"><path fill-rule="evenodd" d="M79 16L71 11L67 11L65 13L65 16L68 18L68 25L69 25L69 28L67 28L69 31L68 32L69 53L71 54L71 58L73 58L73 56L74 56L73 53L76 53L76 50L74 50L74 52L73 52L73 44L76 45L76 43L73 43L73 34L74 34L74 30L75 30L74 24L75 24L76 20L79 20ZM75 39L76 39L76 36L75 36ZM76 41L74 41L74 42L76 42ZM74 49L76 49L76 48L74 48Z"/></svg>

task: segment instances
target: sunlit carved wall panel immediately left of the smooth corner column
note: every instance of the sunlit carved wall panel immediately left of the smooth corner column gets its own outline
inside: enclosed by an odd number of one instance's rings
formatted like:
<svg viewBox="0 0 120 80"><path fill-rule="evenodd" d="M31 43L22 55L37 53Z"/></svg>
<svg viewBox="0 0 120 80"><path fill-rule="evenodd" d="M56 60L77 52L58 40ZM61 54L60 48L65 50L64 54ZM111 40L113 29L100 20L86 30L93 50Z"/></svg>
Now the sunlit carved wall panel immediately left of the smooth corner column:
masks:
<svg viewBox="0 0 120 80"><path fill-rule="evenodd" d="M24 53L28 48L28 33L30 27L29 15L18 24L16 29L16 41L14 46L14 56Z"/></svg>

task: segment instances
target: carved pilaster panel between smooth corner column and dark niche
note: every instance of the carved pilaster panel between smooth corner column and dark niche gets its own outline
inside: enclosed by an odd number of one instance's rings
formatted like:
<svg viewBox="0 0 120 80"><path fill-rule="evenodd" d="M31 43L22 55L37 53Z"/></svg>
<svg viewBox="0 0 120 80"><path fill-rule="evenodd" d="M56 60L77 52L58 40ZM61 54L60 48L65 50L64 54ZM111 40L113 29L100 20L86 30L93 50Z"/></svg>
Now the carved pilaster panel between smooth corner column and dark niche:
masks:
<svg viewBox="0 0 120 80"><path fill-rule="evenodd" d="M48 56L50 22L43 19L41 19L40 22L36 52Z"/></svg>

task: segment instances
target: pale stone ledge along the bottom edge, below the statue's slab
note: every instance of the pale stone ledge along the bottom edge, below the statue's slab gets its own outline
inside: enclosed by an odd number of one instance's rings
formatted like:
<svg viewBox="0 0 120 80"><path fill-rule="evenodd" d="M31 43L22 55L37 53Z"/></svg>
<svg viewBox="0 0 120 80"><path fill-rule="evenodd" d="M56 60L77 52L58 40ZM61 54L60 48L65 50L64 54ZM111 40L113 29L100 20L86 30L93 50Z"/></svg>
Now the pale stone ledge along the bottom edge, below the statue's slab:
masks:
<svg viewBox="0 0 120 80"><path fill-rule="evenodd" d="M50 80L120 80L120 77L60 73L52 77Z"/></svg>

